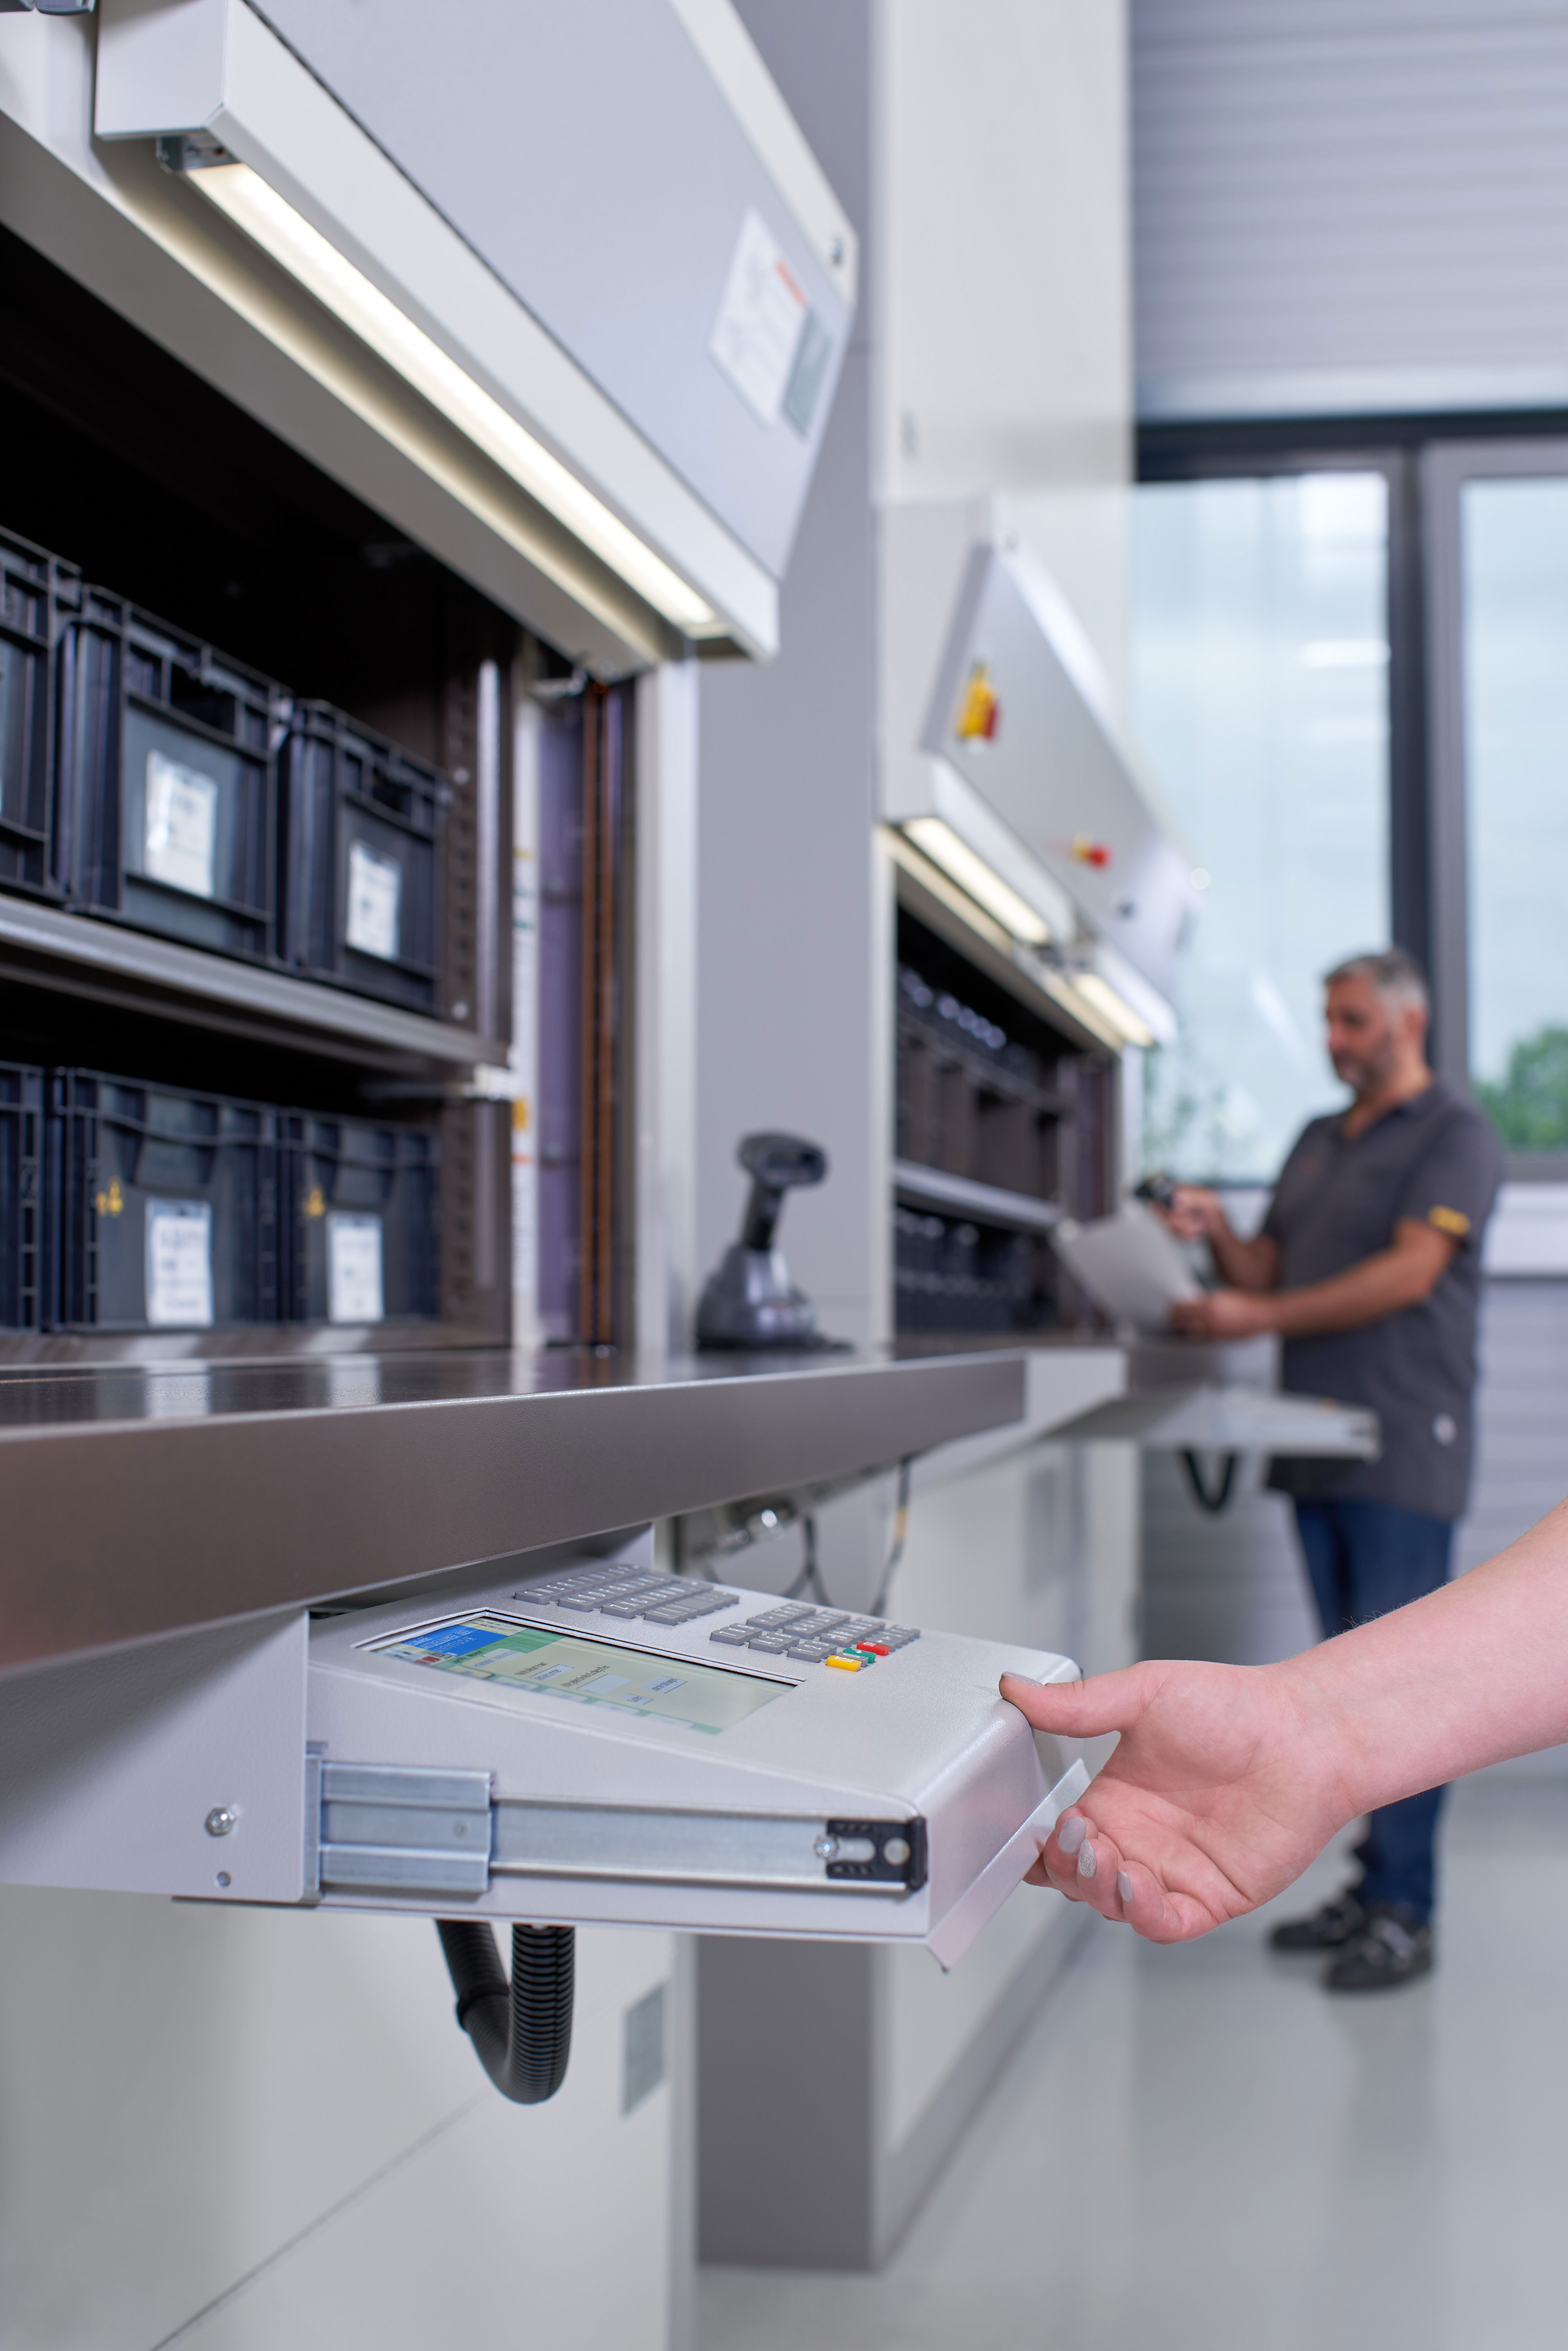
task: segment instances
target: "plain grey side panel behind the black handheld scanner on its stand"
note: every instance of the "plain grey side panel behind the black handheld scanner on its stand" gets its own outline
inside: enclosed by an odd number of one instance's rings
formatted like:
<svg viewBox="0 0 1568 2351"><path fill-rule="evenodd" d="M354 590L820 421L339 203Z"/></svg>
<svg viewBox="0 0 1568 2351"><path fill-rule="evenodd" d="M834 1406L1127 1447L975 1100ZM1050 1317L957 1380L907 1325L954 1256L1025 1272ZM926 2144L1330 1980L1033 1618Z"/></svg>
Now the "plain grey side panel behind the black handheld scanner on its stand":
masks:
<svg viewBox="0 0 1568 2351"><path fill-rule="evenodd" d="M745 0L741 14L863 235L865 0ZM741 1225L738 1138L780 1126L823 1143L832 1173L790 1201L780 1239L823 1328L856 1342L884 1333L889 1298L870 515L863 310L783 590L783 651L764 670L703 672L696 1218L708 1270Z"/></svg>

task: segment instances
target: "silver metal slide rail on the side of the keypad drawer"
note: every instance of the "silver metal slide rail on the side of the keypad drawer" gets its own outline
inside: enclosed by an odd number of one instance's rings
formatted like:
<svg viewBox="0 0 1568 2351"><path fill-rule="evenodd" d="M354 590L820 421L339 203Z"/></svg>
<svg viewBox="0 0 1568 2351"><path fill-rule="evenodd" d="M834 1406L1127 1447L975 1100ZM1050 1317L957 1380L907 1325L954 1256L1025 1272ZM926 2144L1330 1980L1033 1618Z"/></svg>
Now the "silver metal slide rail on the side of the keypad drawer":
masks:
<svg viewBox="0 0 1568 2351"><path fill-rule="evenodd" d="M475 1900L496 1878L912 1895L924 1820L494 1799L489 1773L306 1756L306 1900Z"/></svg>

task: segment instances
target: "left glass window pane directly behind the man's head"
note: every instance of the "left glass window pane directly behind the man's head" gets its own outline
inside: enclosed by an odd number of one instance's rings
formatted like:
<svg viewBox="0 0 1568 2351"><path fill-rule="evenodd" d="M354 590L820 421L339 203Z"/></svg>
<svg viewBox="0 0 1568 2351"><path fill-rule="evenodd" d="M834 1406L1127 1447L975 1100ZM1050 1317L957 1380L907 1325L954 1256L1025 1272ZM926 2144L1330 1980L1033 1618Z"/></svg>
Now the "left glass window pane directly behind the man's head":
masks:
<svg viewBox="0 0 1568 2351"><path fill-rule="evenodd" d="M1140 484L1133 557L1135 726L1201 893L1143 1157L1272 1185L1345 1100L1324 971L1389 936L1389 475Z"/></svg>

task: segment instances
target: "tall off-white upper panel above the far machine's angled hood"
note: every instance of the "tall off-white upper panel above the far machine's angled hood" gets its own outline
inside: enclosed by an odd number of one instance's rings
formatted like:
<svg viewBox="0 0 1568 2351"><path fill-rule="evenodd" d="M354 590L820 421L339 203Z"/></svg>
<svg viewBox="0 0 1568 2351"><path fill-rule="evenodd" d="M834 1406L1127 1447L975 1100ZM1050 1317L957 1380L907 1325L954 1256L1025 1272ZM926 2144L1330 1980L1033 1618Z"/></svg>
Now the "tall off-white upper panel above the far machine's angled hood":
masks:
<svg viewBox="0 0 1568 2351"><path fill-rule="evenodd" d="M1126 686L1124 0L879 9L877 489L994 496Z"/></svg>

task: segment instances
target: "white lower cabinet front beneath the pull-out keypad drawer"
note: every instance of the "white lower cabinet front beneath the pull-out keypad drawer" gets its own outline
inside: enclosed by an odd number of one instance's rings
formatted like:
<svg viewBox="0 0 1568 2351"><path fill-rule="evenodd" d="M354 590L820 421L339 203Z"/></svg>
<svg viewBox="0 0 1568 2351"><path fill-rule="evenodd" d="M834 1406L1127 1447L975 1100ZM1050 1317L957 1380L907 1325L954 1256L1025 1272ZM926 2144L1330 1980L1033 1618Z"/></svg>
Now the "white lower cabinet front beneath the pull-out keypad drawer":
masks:
<svg viewBox="0 0 1568 2351"><path fill-rule="evenodd" d="M672 2088L621 2114L668 1935L578 1935L567 2083L491 2090L423 1918L0 1893L5 2351L665 2351ZM602 2217L614 2215L616 2259Z"/></svg>

